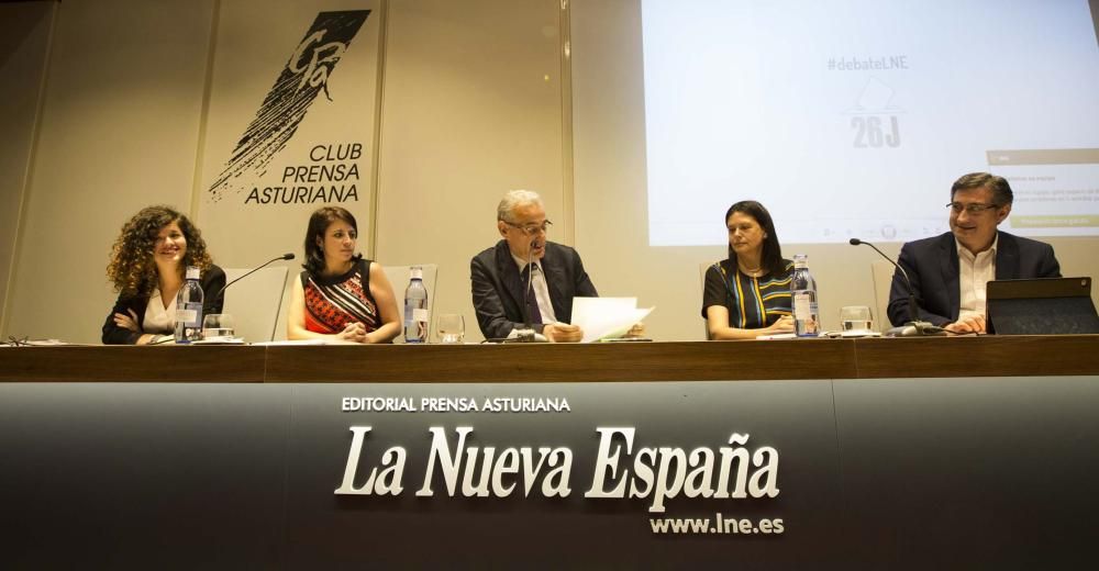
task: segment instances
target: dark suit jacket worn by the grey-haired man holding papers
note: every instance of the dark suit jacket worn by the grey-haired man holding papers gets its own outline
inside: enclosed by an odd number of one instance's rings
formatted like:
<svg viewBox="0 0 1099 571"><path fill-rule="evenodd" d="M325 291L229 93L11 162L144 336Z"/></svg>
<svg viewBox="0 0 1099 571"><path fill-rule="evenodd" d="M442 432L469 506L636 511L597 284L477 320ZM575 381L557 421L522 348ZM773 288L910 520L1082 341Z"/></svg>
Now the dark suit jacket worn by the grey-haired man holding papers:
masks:
<svg viewBox="0 0 1099 571"><path fill-rule="evenodd" d="M584 271L580 256L568 246L547 242L542 271L550 287L554 315L559 322L569 323L573 320L574 296L599 295ZM507 337L511 329L523 326L523 280L506 240L474 257L469 262L469 278L473 281L477 324L485 338ZM539 333L542 328L541 324L534 325Z"/></svg>

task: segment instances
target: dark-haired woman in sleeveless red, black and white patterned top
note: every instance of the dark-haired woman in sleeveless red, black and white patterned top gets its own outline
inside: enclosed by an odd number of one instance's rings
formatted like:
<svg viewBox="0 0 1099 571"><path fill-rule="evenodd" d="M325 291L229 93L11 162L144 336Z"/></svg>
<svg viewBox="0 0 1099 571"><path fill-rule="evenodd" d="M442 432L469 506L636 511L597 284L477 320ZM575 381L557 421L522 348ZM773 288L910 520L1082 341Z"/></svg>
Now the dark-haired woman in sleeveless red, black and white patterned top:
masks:
<svg viewBox="0 0 1099 571"><path fill-rule="evenodd" d="M287 338L389 343L401 326L381 265L355 253L358 225L338 206L313 212L306 232L306 271L293 283Z"/></svg>

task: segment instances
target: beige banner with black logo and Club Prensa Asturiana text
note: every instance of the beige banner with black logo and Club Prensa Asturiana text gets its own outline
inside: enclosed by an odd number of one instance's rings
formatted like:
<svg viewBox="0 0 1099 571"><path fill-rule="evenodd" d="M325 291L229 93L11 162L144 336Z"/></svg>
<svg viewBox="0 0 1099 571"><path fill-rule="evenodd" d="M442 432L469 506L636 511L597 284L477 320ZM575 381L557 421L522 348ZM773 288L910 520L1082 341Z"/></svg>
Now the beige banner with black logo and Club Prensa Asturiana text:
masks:
<svg viewBox="0 0 1099 571"><path fill-rule="evenodd" d="M369 231L379 3L221 4L198 205L219 261L300 249L323 205Z"/></svg>

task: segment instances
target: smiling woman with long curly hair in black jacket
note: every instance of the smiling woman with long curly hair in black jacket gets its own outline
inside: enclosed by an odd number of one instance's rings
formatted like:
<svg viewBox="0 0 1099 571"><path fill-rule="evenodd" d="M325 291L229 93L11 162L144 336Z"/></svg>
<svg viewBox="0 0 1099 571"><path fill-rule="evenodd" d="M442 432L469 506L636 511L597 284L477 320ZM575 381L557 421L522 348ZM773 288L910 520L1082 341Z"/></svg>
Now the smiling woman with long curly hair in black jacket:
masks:
<svg viewBox="0 0 1099 571"><path fill-rule="evenodd" d="M201 272L203 315L221 313L225 272L213 265L202 233L191 221L168 206L148 206L130 219L107 266L119 299L103 323L103 343L146 345L171 335L176 293L188 266Z"/></svg>

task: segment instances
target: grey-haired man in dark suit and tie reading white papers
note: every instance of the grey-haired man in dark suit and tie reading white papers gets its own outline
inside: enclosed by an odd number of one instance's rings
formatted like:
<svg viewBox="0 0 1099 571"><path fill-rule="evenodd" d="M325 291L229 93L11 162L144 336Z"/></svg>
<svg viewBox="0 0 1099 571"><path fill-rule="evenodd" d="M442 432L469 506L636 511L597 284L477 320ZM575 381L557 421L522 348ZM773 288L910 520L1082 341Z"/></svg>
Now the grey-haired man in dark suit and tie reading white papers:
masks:
<svg viewBox="0 0 1099 571"><path fill-rule="evenodd" d="M485 338L514 337L528 316L532 328L550 342L584 337L579 327L568 324L573 298L599 294L576 250L547 239L552 224L536 192L512 190L497 206L502 239L469 265L474 309Z"/></svg>

